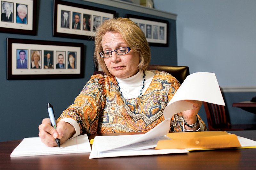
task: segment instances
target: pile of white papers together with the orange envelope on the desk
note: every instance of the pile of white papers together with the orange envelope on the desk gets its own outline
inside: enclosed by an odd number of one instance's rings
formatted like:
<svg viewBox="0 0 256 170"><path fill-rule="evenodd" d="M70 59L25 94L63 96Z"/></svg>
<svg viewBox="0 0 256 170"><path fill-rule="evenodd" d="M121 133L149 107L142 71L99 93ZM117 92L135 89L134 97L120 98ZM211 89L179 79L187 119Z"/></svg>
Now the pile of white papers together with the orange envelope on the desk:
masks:
<svg viewBox="0 0 256 170"><path fill-rule="evenodd" d="M221 148L256 148L256 141L239 137L234 134L228 134L225 131L168 133L167 136L136 143L138 139L143 139L145 136L147 135L95 137L89 159L133 155L187 153L195 150L212 150Z"/></svg>

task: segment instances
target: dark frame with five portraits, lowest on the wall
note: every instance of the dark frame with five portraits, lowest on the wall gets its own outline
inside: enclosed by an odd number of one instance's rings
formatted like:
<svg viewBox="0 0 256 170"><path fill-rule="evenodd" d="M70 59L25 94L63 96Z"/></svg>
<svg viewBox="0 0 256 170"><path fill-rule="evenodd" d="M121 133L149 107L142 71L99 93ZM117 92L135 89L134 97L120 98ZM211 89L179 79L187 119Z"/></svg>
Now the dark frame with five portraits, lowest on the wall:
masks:
<svg viewBox="0 0 256 170"><path fill-rule="evenodd" d="M7 79L84 77L84 44L7 38Z"/></svg>

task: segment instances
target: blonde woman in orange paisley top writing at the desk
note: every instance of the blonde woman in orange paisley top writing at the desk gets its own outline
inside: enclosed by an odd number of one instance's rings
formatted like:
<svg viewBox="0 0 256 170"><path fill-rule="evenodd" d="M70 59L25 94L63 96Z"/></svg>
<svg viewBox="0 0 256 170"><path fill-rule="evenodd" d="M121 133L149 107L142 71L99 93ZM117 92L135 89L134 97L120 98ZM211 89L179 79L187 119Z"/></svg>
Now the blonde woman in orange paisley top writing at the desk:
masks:
<svg viewBox="0 0 256 170"><path fill-rule="evenodd" d="M94 59L106 72L93 75L74 103L58 118L57 130L49 119L39 125L47 146L56 146L80 133L147 132L164 120L163 110L180 83L170 74L146 70L150 49L139 26L128 18L105 21L97 29ZM202 102L174 115L170 131L206 130L197 115ZM183 125L196 124L191 128ZM199 120L199 123L198 123Z"/></svg>

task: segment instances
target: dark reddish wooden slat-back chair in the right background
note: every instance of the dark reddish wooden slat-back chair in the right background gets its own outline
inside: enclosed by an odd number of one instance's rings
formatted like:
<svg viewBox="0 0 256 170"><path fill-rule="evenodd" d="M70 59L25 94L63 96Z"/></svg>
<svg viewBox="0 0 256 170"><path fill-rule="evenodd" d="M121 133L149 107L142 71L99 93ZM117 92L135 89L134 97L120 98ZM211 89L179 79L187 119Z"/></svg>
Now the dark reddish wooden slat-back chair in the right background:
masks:
<svg viewBox="0 0 256 170"><path fill-rule="evenodd" d="M228 111L225 106L207 102L203 103L206 112L209 131L256 129L256 124L231 124Z"/></svg>

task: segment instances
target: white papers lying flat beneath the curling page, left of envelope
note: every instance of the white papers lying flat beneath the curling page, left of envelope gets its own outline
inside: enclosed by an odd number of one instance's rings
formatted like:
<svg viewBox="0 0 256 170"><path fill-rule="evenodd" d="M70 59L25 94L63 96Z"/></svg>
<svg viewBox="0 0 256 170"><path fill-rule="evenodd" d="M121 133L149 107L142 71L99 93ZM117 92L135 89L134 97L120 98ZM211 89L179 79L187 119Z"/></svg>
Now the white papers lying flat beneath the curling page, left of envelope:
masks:
<svg viewBox="0 0 256 170"><path fill-rule="evenodd" d="M143 135L122 135L122 136L97 136L94 138L92 152L89 159L134 156L134 155L161 155L168 153L188 153L186 149L159 149L155 150L159 140L170 139L167 136L157 137L151 140L133 143L141 139ZM129 143L129 145L125 145ZM116 147L115 147L116 145ZM125 145L125 146L123 146ZM120 147L121 146L121 147Z"/></svg>

